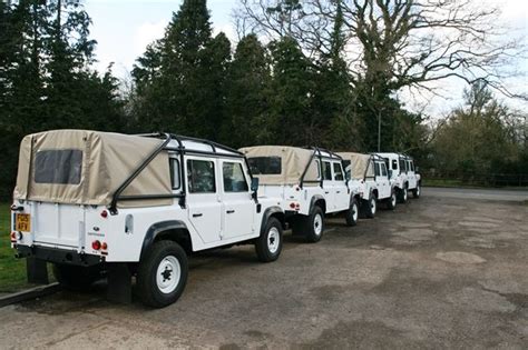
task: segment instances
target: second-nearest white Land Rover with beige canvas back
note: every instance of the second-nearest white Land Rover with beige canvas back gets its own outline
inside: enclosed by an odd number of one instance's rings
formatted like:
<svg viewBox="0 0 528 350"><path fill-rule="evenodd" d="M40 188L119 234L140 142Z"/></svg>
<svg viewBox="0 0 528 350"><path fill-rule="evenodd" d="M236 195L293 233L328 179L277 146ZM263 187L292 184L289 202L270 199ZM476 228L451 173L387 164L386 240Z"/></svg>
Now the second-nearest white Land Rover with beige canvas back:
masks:
<svg viewBox="0 0 528 350"><path fill-rule="evenodd" d="M309 242L321 240L324 216L345 212L358 221L359 204L346 184L341 157L319 148L258 146L241 149L260 179L260 196L280 197L293 234Z"/></svg>

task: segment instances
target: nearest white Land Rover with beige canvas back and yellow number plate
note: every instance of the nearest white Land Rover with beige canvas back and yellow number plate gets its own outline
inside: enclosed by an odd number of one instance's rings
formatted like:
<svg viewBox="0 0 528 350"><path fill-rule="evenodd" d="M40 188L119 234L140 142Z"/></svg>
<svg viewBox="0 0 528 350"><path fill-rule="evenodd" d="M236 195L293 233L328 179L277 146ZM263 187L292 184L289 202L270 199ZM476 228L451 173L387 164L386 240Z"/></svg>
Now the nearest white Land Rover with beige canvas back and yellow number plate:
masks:
<svg viewBox="0 0 528 350"><path fill-rule="evenodd" d="M257 188L243 153L206 140L35 133L20 147L11 243L31 282L51 262L66 287L106 274L107 297L130 302L135 276L143 302L164 307L185 288L190 252L254 243L261 261L278 258L284 211Z"/></svg>

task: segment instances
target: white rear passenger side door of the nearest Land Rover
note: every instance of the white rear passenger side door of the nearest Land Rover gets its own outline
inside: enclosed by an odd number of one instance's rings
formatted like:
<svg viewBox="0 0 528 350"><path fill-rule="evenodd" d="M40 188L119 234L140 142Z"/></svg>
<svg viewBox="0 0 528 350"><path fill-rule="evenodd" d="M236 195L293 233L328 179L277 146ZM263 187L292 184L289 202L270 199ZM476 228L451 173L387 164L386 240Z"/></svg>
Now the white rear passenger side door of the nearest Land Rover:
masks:
<svg viewBox="0 0 528 350"><path fill-rule="evenodd" d="M188 219L204 243L221 240L222 201L218 186L218 161L188 156L187 176Z"/></svg>

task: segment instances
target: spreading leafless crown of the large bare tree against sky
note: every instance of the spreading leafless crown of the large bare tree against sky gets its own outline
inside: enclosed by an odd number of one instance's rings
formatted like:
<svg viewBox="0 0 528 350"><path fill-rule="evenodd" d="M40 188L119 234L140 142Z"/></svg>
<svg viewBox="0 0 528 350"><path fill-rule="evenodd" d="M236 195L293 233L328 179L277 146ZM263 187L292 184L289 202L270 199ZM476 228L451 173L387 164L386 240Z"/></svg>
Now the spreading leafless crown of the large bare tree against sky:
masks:
<svg viewBox="0 0 528 350"><path fill-rule="evenodd" d="M432 82L456 77L528 99L503 83L519 74L506 67L515 67L522 43L500 26L498 8L477 0L239 0L235 17L272 39L291 36L316 57L333 49L338 7L355 81L434 92Z"/></svg>

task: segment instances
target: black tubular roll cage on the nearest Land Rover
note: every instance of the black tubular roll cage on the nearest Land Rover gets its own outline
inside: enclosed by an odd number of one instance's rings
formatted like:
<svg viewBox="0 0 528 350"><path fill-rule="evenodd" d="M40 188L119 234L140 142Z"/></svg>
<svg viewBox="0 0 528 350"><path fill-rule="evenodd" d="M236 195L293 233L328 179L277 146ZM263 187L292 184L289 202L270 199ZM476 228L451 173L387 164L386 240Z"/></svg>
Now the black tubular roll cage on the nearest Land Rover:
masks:
<svg viewBox="0 0 528 350"><path fill-rule="evenodd" d="M245 157L244 153L242 153L238 150L235 150L233 148L229 148L227 146L223 146L219 143L216 143L214 141L209 140L204 140L204 139L198 139L198 138L192 138L192 137L184 137L184 136L178 136L174 133L167 133L167 132L157 132L157 133L140 133L136 134L138 137L144 137L144 138L159 138L164 139L163 142L139 164L139 167L117 188L117 190L114 192L114 196L111 198L111 202L109 206L109 211L111 214L117 213L117 202L119 200L148 200L148 199L164 199L164 198L179 198L179 206L182 208L185 208L185 198L186 198L186 177L184 174L184 163L185 163L185 154L198 154L198 156L212 156L212 157L226 157L226 158L244 158L244 162L247 168L247 172L250 174L250 183L253 182L253 174L251 172L250 163L247 162L247 158ZM175 140L178 142L178 147L167 147L167 144ZM202 150L192 150L192 149L186 149L183 141L193 141L197 143L204 143L207 144L212 148L212 151L202 151ZM228 153L218 153L217 149L222 149L228 152L233 152L235 154L228 154ZM138 196L121 196L123 191L136 179L139 173L163 151L174 151L179 153L179 170L180 170L180 179L182 179L182 192L180 193L170 193L170 194L138 194ZM255 201L256 201L256 196L255 196Z"/></svg>

